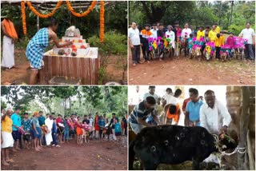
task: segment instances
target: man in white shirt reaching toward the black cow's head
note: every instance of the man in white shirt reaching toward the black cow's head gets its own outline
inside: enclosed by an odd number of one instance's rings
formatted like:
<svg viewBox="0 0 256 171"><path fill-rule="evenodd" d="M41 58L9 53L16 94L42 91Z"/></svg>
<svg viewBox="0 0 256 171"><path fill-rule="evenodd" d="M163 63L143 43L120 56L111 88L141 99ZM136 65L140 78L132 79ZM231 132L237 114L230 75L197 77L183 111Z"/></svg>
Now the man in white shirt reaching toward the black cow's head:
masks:
<svg viewBox="0 0 256 171"><path fill-rule="evenodd" d="M226 133L230 125L231 117L225 105L216 100L214 91L207 90L205 100L200 109L200 125L212 134ZM218 163L218 158L214 154L206 158L206 162Z"/></svg>

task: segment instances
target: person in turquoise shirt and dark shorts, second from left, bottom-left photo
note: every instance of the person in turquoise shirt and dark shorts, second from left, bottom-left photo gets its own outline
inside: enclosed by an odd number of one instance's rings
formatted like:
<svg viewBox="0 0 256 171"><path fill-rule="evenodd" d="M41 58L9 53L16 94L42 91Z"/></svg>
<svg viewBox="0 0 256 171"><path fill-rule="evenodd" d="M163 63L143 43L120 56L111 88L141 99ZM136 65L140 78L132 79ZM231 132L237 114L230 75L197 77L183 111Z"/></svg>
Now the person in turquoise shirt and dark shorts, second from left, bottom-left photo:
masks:
<svg viewBox="0 0 256 171"><path fill-rule="evenodd" d="M13 121L13 125L12 125L12 135L14 137L14 151L16 151L16 149L20 150L20 148L18 147L19 145L19 141L21 141L21 133L19 133L18 128L22 126L22 117L19 116L20 113L20 109L17 107L15 109L15 113L13 113L10 118ZM16 145L15 145L16 143Z"/></svg>

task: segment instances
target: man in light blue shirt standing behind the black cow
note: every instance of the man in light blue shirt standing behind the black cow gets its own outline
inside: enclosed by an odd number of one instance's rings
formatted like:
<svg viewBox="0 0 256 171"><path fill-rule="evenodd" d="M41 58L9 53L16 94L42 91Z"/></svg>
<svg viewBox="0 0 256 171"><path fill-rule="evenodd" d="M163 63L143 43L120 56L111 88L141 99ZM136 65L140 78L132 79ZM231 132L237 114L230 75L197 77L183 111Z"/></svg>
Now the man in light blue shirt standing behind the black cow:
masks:
<svg viewBox="0 0 256 171"><path fill-rule="evenodd" d="M203 104L203 101L198 96L198 89L190 88L190 99L186 105L186 121L189 121L189 126L196 126L200 124L200 108Z"/></svg>

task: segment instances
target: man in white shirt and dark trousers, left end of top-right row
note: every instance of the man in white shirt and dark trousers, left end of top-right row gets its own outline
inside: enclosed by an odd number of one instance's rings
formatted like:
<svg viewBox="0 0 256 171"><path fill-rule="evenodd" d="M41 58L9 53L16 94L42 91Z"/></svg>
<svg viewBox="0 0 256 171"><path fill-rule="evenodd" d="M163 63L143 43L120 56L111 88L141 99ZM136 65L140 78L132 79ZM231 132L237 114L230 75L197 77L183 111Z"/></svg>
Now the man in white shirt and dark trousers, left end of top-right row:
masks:
<svg viewBox="0 0 256 171"><path fill-rule="evenodd" d="M142 63L140 61L141 42L136 22L132 22L131 27L128 29L128 39L132 53L133 66L136 66L137 63Z"/></svg>

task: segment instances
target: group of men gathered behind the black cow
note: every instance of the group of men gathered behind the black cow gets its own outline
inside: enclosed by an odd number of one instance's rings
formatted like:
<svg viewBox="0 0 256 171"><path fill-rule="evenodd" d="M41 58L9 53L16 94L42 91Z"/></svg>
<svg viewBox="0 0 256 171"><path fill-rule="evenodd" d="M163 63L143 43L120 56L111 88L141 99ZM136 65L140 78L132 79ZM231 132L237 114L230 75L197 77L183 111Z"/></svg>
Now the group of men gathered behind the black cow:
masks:
<svg viewBox="0 0 256 171"><path fill-rule="evenodd" d="M166 89L166 95L159 97L155 86L149 87L149 92L143 100L134 106L128 121L134 133L138 134L143 128L154 125L178 125L180 115L185 114L185 126L202 126L210 133L226 133L231 117L225 105L218 101L214 91L207 90L204 97L199 96L198 89L190 88L190 97L182 105L179 103L181 89ZM158 114L158 105L163 112ZM183 124L182 124L183 125Z"/></svg>

